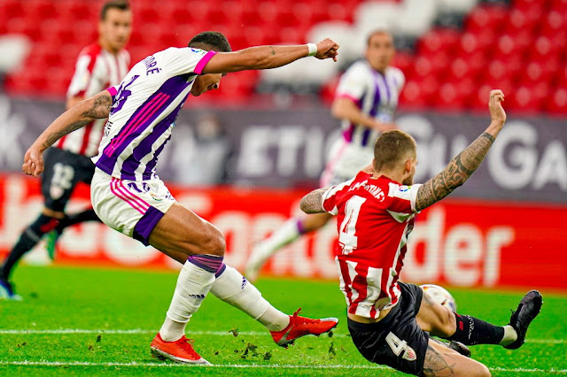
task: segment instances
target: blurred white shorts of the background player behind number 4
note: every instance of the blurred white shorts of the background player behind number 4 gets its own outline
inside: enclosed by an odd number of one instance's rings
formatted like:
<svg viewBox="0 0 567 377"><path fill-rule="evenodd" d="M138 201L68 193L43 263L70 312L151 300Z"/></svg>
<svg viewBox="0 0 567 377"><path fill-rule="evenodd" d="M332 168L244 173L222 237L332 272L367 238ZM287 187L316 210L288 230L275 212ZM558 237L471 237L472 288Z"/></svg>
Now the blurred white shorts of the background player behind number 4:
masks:
<svg viewBox="0 0 567 377"><path fill-rule="evenodd" d="M374 149L347 142L339 137L330 147L327 165L319 181L322 188L352 180L364 167L372 164Z"/></svg>

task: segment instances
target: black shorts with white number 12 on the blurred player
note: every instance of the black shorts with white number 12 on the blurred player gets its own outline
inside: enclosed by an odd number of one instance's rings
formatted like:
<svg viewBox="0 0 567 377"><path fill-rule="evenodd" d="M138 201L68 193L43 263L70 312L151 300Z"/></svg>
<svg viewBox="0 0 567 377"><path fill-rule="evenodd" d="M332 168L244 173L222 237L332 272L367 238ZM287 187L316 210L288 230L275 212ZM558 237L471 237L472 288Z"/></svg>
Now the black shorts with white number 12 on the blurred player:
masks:
<svg viewBox="0 0 567 377"><path fill-rule="evenodd" d="M49 148L43 156L42 194L45 206L63 212L78 182L90 184L95 165L90 158L67 150Z"/></svg>

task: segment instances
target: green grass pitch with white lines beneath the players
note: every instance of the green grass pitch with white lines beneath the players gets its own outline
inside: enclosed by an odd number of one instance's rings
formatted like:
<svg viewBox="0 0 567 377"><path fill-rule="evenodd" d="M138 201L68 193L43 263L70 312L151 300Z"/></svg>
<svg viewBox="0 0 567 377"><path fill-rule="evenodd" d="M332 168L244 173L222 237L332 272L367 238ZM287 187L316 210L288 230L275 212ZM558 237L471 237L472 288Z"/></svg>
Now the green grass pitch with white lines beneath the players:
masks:
<svg viewBox="0 0 567 377"><path fill-rule="evenodd" d="M280 310L338 317L334 335L307 336L284 350L244 313L209 295L188 337L213 366L151 358L176 273L21 266L24 302L0 301L0 375L373 375L399 376L362 358L347 335L345 300L335 281L265 279L257 287ZM524 291L450 289L459 312L508 323ZM495 376L567 375L567 296L542 290L542 312L519 350L472 347Z"/></svg>

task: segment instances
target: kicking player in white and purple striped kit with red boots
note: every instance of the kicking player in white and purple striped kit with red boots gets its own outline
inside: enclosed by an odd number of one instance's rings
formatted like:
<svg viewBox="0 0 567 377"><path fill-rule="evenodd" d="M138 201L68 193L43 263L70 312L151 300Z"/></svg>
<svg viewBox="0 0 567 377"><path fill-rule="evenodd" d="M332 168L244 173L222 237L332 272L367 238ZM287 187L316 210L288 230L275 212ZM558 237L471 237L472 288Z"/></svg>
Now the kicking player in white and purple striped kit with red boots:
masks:
<svg viewBox="0 0 567 377"><path fill-rule="evenodd" d="M109 227L183 264L166 320L151 342L159 357L208 364L185 337L185 326L209 290L260 321L281 346L337 326L338 319L307 319L299 317L299 311L288 316L270 305L237 270L222 262L226 244L221 231L175 202L155 174L159 153L189 95L219 88L225 73L276 68L307 56L336 61L337 50L337 43L325 39L231 52L221 33L200 33L188 48L156 52L136 64L119 86L63 113L27 150L22 170L37 177L43 172L44 150L93 119L108 117L93 158L93 208Z"/></svg>

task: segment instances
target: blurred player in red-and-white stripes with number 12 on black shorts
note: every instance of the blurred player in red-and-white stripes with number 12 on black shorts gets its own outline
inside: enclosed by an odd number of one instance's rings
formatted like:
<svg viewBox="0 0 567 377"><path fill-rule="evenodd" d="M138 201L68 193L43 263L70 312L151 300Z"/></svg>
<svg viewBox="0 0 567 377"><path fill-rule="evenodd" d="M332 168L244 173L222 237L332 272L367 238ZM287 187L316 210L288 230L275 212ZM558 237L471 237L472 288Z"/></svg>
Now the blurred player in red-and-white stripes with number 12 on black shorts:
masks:
<svg viewBox="0 0 567 377"><path fill-rule="evenodd" d="M98 41L82 49L67 90L66 108L122 81L128 73L130 56L124 46L132 30L132 12L127 1L113 0L103 5L98 22ZM45 153L42 180L44 207L37 219L19 236L0 269L0 296L19 300L14 293L10 274L24 254L49 234L47 248L53 258L55 242L65 227L82 221L100 221L91 209L66 215L66 204L77 183L90 184L95 165L90 158L97 155L105 119L95 119L86 127L62 137Z"/></svg>

